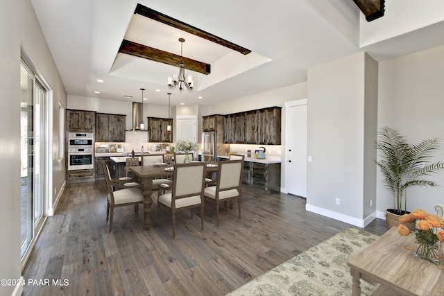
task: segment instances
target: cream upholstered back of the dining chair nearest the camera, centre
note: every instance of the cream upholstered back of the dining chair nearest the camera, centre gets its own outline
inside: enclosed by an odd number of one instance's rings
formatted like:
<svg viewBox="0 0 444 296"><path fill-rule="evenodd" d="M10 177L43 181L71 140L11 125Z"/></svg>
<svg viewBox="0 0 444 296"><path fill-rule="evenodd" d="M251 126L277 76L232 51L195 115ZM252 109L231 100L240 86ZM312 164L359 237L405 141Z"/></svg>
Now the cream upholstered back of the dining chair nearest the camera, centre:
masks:
<svg viewBox="0 0 444 296"><path fill-rule="evenodd" d="M174 165L171 209L176 207L176 200L191 196L200 196L203 202L205 171L206 166L203 162Z"/></svg>

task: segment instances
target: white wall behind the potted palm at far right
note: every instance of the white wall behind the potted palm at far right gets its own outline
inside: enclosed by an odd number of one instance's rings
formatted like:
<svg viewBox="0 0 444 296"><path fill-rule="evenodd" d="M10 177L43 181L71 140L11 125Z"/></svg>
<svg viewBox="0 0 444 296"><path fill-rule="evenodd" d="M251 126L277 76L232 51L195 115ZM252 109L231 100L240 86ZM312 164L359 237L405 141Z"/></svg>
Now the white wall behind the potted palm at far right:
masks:
<svg viewBox="0 0 444 296"><path fill-rule="evenodd" d="M444 46L420 51L379 63L378 126L390 126L410 143L438 137L441 148L434 161L444 160ZM393 198L377 183L378 217L393 208ZM411 187L407 210L425 209L434 213L434 204L444 203L444 172L427 177L439 187Z"/></svg>

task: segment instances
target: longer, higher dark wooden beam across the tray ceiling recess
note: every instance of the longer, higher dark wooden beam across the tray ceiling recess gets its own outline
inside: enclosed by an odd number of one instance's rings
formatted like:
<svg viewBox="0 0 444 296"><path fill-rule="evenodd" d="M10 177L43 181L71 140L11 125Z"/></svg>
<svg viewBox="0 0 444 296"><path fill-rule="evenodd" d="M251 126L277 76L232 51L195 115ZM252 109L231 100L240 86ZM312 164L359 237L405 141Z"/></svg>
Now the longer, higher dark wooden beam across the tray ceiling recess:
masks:
<svg viewBox="0 0 444 296"><path fill-rule="evenodd" d="M164 15L163 13L157 12L151 8L143 6L142 4L137 4L135 9L135 14L142 15L144 17L148 17L148 19L153 19L155 21L160 21L162 24L167 24L168 26L172 26L174 28L178 28L179 30L185 31L187 33L196 35L205 40L209 40L221 46L228 47L228 49L232 49L234 51L239 51L243 55L247 55L251 51L246 49L245 47L239 46L232 42L222 39L221 37L217 37L216 35L212 35L205 31L200 30L194 26L189 24L185 24L183 21L179 21L178 19L173 19L173 17L169 17L168 15Z"/></svg>

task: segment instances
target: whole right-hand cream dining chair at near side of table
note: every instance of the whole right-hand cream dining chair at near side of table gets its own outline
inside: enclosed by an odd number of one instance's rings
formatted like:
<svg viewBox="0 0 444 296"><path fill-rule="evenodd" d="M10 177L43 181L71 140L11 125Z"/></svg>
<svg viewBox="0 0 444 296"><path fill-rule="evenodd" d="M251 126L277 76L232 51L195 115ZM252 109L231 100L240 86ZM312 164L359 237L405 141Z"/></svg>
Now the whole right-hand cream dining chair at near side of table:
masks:
<svg viewBox="0 0 444 296"><path fill-rule="evenodd" d="M204 190L206 200L212 200L216 203L216 221L219 225L219 204L237 200L239 219L241 218L241 198L242 198L242 171L244 170L244 161L241 159L219 162L216 176L216 185L207 186Z"/></svg>

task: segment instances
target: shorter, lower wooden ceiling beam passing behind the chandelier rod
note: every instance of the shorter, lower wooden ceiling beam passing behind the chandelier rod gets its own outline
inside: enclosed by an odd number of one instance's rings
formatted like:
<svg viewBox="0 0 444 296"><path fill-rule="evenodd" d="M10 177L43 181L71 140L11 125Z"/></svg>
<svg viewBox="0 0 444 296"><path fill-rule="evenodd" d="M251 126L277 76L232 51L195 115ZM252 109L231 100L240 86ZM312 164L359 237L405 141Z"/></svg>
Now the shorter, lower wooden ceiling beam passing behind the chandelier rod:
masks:
<svg viewBox="0 0 444 296"><path fill-rule="evenodd" d="M182 62L180 55L169 53L167 51L161 51L160 49L154 49L153 47L145 46L129 40L123 40L119 53L126 53L128 55L134 55L139 58L145 58L153 60L155 62L162 62L164 64L171 64L171 66L178 67ZM184 67L187 70L195 71L208 75L211 73L211 64L205 62L199 62L197 60L191 60L189 58L183 58Z"/></svg>

